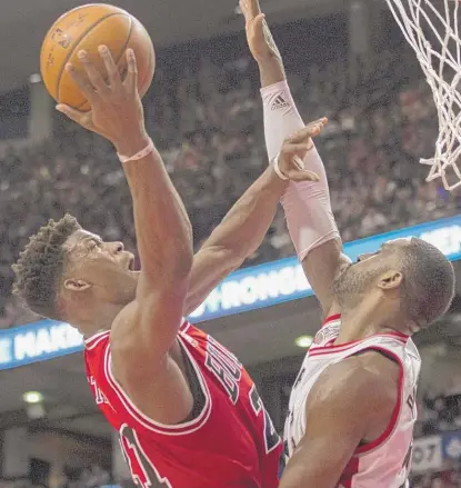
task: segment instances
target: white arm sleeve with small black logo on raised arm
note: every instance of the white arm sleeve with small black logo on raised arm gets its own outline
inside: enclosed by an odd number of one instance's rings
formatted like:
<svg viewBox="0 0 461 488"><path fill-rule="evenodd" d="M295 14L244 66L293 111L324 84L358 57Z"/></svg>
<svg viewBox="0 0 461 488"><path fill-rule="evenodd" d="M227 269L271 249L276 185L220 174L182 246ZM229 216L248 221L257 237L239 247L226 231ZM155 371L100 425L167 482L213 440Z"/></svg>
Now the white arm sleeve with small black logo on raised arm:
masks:
<svg viewBox="0 0 461 488"><path fill-rule="evenodd" d="M304 127L287 81L261 89L264 110L264 136L269 160L280 151L283 141ZM320 181L290 181L281 203L288 230L302 261L313 248L332 239L340 240L330 205L327 175L315 147L308 152L304 168L315 172Z"/></svg>

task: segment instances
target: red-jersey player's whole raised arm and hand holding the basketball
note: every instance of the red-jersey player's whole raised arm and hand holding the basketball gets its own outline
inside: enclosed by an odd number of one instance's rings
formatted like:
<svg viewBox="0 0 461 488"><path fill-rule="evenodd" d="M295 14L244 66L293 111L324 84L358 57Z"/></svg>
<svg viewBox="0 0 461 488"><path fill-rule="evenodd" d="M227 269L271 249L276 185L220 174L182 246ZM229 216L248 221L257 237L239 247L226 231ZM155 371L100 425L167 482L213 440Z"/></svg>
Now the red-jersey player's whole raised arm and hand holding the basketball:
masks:
<svg viewBox="0 0 461 488"><path fill-rule="evenodd" d="M136 300L119 313L112 326L112 360L116 371L122 370L123 375L133 371L142 375L143 369L152 375L181 325L192 265L192 232L163 161L146 133L133 51L127 51L124 80L109 50L100 47L99 52L108 82L86 52L80 52L79 58L87 76L72 66L67 67L89 100L91 112L80 113L63 106L58 109L87 129L104 136L119 156L123 155L120 159L133 199L142 271ZM119 350L131 350L131 353L119 353ZM149 361L146 361L146 353Z"/></svg>

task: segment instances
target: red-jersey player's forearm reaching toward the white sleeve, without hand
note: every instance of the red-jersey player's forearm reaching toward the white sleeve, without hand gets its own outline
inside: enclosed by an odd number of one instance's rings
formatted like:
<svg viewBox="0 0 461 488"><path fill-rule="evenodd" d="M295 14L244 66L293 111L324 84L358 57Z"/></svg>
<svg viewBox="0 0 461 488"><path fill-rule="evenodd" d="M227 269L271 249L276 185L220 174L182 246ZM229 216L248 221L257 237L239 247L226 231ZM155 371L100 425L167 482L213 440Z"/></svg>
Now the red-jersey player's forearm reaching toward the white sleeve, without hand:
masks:
<svg viewBox="0 0 461 488"><path fill-rule="evenodd" d="M264 239L287 186L269 167L235 202L203 247L226 249L235 261L251 256Z"/></svg>

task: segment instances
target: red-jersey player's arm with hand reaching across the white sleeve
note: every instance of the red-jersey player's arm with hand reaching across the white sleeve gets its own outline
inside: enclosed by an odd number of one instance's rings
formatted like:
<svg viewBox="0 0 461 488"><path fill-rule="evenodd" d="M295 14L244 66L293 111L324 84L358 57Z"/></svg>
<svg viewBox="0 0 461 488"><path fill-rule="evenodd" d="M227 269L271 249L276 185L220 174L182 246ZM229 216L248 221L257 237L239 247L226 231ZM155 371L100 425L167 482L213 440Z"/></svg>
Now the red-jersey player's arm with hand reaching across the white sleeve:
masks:
<svg viewBox="0 0 461 488"><path fill-rule="evenodd" d="M281 179L272 163L230 209L193 258L184 315L191 313L212 289L261 245L272 223L277 206L288 182L317 181L318 176L297 165L311 147L311 137L322 130L327 119L317 120L288 138L280 151Z"/></svg>

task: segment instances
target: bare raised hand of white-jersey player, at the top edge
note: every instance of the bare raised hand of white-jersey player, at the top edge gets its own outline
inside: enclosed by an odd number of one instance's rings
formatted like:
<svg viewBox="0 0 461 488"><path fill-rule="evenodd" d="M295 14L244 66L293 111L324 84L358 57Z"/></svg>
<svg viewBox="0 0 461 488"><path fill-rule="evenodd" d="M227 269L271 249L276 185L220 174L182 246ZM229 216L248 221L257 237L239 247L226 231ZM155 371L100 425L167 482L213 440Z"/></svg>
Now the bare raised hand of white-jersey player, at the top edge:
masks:
<svg viewBox="0 0 461 488"><path fill-rule="evenodd" d="M240 0L240 10L245 21L248 46L255 61L261 62L271 56L280 57L259 1Z"/></svg>

